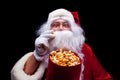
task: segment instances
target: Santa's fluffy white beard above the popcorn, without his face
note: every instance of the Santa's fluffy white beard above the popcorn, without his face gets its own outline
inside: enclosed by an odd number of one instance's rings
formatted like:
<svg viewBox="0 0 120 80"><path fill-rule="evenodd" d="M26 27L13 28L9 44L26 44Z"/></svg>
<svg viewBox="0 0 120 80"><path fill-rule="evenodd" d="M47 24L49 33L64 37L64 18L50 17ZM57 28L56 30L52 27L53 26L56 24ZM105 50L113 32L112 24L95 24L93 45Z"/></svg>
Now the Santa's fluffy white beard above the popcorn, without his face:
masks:
<svg viewBox="0 0 120 80"><path fill-rule="evenodd" d="M66 49L79 53L81 51L82 43L81 37L75 36L71 31L56 31L54 32L55 38L50 43L50 51L57 49Z"/></svg>

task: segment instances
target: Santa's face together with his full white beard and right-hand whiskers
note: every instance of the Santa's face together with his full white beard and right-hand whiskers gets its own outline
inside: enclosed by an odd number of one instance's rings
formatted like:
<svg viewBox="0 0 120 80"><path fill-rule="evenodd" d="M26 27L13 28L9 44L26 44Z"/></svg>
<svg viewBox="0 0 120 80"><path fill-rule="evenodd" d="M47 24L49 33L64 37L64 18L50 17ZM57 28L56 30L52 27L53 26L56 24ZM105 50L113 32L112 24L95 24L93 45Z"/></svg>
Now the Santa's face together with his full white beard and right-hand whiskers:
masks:
<svg viewBox="0 0 120 80"><path fill-rule="evenodd" d="M73 28L72 28L73 27ZM54 31L55 38L50 43L50 51L68 49L77 52L84 42L81 28L72 25L69 20L58 18L52 21L50 29Z"/></svg>

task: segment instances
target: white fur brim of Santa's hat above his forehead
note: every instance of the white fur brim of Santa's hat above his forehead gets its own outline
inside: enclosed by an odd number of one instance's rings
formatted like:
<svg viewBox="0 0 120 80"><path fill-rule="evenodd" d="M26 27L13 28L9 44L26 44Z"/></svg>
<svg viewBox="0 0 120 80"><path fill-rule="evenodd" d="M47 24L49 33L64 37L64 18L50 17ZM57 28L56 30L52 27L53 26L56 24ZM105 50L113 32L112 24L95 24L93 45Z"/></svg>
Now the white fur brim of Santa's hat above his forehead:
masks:
<svg viewBox="0 0 120 80"><path fill-rule="evenodd" d="M63 8L56 9L56 10L52 11L51 13L49 13L48 21L51 20L52 18L56 18L56 17L59 17L59 18L69 17L71 20L75 21L72 13Z"/></svg>

